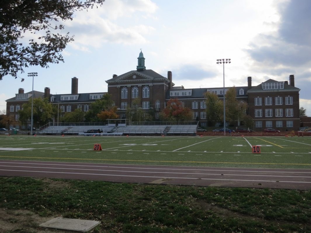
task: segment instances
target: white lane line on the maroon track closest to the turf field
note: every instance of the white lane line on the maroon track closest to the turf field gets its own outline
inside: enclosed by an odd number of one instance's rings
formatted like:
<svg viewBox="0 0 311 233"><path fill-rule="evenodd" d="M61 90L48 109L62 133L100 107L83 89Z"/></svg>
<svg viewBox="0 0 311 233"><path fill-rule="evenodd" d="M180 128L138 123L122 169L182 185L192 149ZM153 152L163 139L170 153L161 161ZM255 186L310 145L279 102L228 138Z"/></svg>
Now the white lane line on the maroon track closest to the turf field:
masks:
<svg viewBox="0 0 311 233"><path fill-rule="evenodd" d="M275 155L275 156L281 156L281 155ZM32 162L32 161L31 161ZM305 171L295 171L295 169L292 169L294 171L288 171L290 169L285 169L286 171L269 171L267 168L263 168L265 171L256 171L256 170L220 170L220 169L188 169L188 168L152 168L152 167L121 167L121 166L111 166L109 165L72 165L72 164L63 164L62 162L56 162L56 163L30 163L30 162L0 162L1 163L9 163L9 164L32 164L32 165L57 165L57 166L73 166L73 167L109 167L109 168L135 168L135 169L149 169L149 170L184 170L184 171L242 171L242 172L275 172L275 173L310 173L311 172L305 172ZM2 166L2 165L1 165ZM142 165L137 165L142 166ZM19 167L19 166L12 166L12 167ZM23 167L23 166L21 166ZM280 169L274 169L274 170L280 170ZM304 169L305 170L305 169Z"/></svg>

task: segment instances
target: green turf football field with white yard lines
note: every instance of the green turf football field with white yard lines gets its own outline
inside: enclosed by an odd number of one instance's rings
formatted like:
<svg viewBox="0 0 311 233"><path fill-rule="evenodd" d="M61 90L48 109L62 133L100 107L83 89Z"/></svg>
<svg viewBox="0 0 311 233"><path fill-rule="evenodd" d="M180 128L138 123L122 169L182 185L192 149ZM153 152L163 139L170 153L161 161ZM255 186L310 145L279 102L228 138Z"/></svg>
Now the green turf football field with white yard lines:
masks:
<svg viewBox="0 0 311 233"><path fill-rule="evenodd" d="M0 159L9 160L310 169L310 158L311 137L0 136Z"/></svg>

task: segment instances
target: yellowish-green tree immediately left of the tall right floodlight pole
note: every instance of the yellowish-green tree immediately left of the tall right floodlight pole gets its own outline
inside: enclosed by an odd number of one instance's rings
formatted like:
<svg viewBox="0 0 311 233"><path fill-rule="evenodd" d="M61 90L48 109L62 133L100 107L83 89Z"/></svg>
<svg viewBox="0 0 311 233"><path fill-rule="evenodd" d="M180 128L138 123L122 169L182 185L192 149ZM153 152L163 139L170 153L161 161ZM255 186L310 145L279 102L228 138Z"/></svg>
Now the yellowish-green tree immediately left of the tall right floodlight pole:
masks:
<svg viewBox="0 0 311 233"><path fill-rule="evenodd" d="M223 119L223 106L224 102L218 98L214 93L205 93L206 103L206 118L211 125L215 125Z"/></svg>

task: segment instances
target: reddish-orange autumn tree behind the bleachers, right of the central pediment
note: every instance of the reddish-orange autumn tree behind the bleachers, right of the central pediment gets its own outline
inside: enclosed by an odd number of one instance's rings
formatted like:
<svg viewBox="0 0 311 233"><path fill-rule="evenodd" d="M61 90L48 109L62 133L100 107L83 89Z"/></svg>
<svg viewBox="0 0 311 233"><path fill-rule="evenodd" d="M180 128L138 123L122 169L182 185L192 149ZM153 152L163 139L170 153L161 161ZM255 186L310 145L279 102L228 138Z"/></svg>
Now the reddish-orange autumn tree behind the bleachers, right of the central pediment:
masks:
<svg viewBox="0 0 311 233"><path fill-rule="evenodd" d="M161 117L167 121L190 121L193 112L188 107L183 107L183 104L178 99L170 99L167 106L162 110Z"/></svg>

